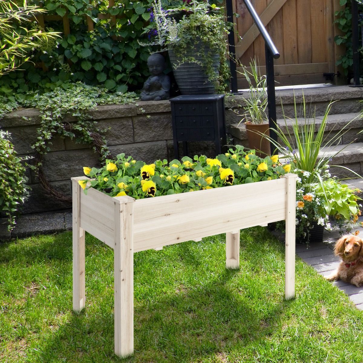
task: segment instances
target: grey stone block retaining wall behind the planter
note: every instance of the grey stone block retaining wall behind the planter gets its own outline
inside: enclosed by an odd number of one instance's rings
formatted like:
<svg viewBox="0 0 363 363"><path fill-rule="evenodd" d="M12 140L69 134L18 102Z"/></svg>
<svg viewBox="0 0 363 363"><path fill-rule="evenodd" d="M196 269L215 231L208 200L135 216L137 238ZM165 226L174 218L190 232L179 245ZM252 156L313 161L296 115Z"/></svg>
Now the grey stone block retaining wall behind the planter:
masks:
<svg viewBox="0 0 363 363"><path fill-rule="evenodd" d="M169 101L99 106L90 111L90 118L99 122L100 129L110 128L105 136L112 157L124 152L147 163L157 159L174 159ZM228 126L237 122L239 116L226 110L226 118ZM23 109L5 115L0 120L0 127L11 132L11 141L20 156L33 155L30 145L36 142L36 130L40 121L37 109ZM72 123L75 118L69 115L64 121ZM194 142L188 146L189 155L215 156L213 142ZM83 175L83 166L100 166L98 154L89 145L77 144L69 138L56 136L50 149L43 160L44 174L50 184L64 195L71 195L70 178ZM56 211L71 207L69 203L47 196L34 172L28 170L28 178L32 190L22 213Z"/></svg>

